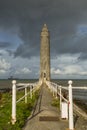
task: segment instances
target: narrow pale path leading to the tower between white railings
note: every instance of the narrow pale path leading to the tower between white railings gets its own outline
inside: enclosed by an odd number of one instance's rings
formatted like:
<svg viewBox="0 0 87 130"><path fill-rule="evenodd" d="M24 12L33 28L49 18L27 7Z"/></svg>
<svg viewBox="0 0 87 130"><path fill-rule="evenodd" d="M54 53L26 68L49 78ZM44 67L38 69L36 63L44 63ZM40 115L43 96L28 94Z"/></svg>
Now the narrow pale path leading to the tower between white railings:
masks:
<svg viewBox="0 0 87 130"><path fill-rule="evenodd" d="M60 120L58 108L51 105L52 99L52 94L43 84L36 107L23 130L66 130L68 128L68 121Z"/></svg>

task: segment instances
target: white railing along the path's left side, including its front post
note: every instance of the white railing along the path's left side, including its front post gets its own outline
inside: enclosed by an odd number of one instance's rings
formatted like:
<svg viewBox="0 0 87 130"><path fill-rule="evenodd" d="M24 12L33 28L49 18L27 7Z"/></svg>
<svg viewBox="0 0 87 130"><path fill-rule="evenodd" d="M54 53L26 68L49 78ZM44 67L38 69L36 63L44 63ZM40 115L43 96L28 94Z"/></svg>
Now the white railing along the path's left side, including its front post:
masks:
<svg viewBox="0 0 87 130"><path fill-rule="evenodd" d="M16 80L12 81L12 119L11 122L14 125L16 122L16 104L25 98L25 103L27 103L27 96L30 95L32 98L33 92L35 92L41 86L41 82L36 83L18 83ZM28 92L29 88L29 92ZM20 99L16 100L16 91L25 89L25 94Z"/></svg>

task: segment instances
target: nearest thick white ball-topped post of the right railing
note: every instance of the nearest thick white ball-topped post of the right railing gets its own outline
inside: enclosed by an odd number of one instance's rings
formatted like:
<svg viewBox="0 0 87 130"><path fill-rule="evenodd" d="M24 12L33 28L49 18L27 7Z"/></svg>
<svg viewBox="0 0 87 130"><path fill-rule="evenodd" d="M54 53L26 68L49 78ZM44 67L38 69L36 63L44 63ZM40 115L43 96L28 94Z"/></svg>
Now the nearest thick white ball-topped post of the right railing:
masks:
<svg viewBox="0 0 87 130"><path fill-rule="evenodd" d="M74 130L73 125L73 97L72 97L72 81L68 81L69 84L69 130Z"/></svg>

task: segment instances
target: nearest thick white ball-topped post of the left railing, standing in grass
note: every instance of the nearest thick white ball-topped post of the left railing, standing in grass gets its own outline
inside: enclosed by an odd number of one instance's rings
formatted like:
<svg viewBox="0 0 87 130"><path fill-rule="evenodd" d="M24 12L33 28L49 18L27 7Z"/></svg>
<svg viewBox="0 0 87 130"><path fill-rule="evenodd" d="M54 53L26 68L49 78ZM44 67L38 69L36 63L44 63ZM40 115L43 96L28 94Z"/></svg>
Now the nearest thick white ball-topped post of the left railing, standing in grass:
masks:
<svg viewBox="0 0 87 130"><path fill-rule="evenodd" d="M16 80L12 81L12 124L16 122Z"/></svg>

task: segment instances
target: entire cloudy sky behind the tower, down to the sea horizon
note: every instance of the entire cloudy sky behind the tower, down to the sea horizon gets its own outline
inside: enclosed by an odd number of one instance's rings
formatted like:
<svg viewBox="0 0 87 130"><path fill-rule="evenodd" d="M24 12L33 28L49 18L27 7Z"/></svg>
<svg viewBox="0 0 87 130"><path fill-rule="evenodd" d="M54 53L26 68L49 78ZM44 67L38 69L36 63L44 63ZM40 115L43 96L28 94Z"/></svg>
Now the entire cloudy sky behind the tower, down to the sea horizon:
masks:
<svg viewBox="0 0 87 130"><path fill-rule="evenodd" d="M52 78L87 78L87 0L0 0L0 78L39 78L50 31Z"/></svg>

